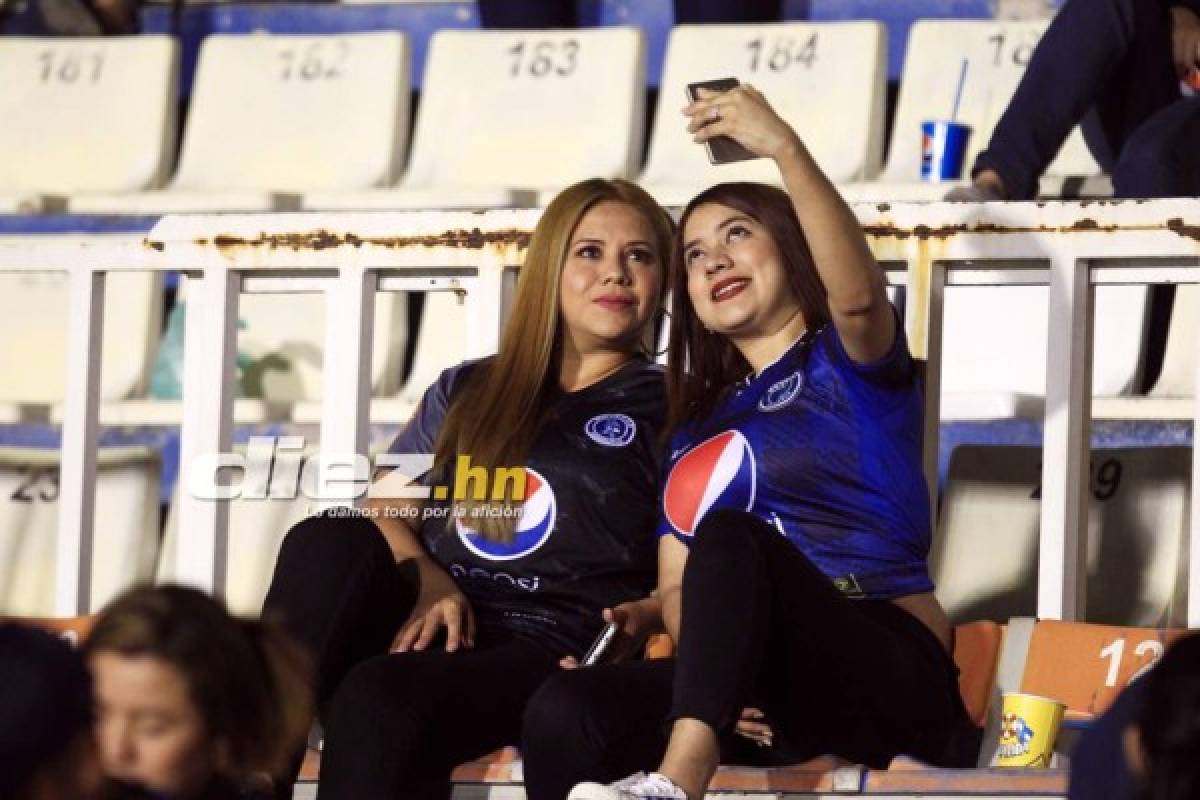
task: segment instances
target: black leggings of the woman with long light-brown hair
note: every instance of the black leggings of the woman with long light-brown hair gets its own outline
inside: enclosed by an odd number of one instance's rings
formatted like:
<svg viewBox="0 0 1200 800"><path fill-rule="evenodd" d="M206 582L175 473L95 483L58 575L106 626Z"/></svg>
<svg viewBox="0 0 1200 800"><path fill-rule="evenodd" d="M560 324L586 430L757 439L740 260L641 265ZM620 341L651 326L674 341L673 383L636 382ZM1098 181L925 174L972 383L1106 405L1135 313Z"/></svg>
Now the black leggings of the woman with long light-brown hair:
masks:
<svg viewBox="0 0 1200 800"><path fill-rule="evenodd" d="M455 766L520 741L526 703L558 668L547 648L491 631L472 650L388 655L416 590L370 519L311 517L283 541L263 610L316 661L320 800L444 800Z"/></svg>

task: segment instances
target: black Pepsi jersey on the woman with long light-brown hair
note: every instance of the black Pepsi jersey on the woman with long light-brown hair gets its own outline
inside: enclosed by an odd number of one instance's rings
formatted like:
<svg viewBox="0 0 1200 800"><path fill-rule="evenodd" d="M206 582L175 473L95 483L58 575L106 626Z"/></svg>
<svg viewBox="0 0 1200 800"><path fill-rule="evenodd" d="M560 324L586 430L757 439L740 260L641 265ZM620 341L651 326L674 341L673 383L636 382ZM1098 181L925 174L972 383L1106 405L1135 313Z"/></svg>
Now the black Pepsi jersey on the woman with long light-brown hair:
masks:
<svg viewBox="0 0 1200 800"><path fill-rule="evenodd" d="M474 362L442 373L390 452L431 453L457 386ZM420 536L455 577L481 626L498 626L582 655L605 607L654 588L659 451L666 397L662 369L632 361L576 392L558 392L524 467L526 500L511 543L456 521L450 500ZM452 485L426 475L426 485Z"/></svg>

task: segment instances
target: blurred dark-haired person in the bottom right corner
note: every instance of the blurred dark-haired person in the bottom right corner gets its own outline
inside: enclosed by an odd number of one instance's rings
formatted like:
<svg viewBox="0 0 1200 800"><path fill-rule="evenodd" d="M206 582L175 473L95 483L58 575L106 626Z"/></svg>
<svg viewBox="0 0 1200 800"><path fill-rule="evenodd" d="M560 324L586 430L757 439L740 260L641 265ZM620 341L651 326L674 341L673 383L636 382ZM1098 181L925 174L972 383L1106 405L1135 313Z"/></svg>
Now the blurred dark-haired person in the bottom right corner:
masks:
<svg viewBox="0 0 1200 800"><path fill-rule="evenodd" d="M1200 798L1200 634L1172 644L1080 738L1070 800Z"/></svg>

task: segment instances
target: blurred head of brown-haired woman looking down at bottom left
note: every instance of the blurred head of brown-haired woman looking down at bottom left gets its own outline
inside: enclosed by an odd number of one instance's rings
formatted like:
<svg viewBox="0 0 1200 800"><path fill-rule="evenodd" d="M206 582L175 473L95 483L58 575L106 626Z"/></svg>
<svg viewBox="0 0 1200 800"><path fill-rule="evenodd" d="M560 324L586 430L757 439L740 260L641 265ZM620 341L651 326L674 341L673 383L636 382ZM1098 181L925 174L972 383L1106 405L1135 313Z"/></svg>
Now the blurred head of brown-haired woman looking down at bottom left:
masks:
<svg viewBox="0 0 1200 800"><path fill-rule="evenodd" d="M106 776L199 798L281 776L311 720L302 652L272 625L182 587L113 601L83 645Z"/></svg>

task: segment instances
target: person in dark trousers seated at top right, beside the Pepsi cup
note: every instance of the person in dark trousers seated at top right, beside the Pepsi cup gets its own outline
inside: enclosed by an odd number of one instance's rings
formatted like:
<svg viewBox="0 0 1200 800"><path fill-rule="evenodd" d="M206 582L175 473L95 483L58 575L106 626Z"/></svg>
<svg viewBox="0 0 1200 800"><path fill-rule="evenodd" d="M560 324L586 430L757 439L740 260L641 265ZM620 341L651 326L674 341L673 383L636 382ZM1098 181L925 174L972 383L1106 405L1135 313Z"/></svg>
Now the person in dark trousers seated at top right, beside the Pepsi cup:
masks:
<svg viewBox="0 0 1200 800"><path fill-rule="evenodd" d="M1116 197L1200 196L1200 96L1186 83L1200 90L1200 0L1068 0L976 158L972 184L946 199L1033 199L1080 122Z"/></svg>

